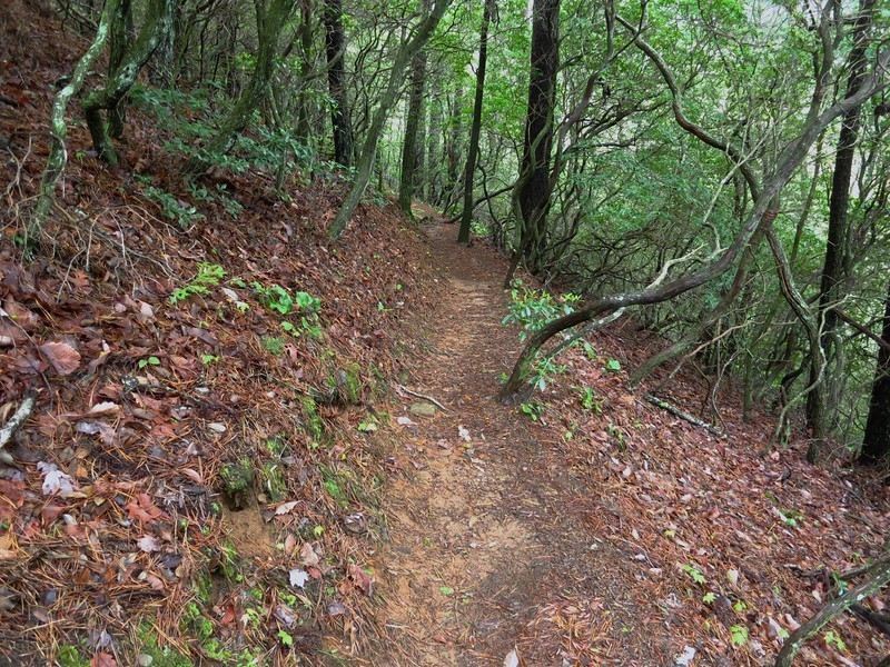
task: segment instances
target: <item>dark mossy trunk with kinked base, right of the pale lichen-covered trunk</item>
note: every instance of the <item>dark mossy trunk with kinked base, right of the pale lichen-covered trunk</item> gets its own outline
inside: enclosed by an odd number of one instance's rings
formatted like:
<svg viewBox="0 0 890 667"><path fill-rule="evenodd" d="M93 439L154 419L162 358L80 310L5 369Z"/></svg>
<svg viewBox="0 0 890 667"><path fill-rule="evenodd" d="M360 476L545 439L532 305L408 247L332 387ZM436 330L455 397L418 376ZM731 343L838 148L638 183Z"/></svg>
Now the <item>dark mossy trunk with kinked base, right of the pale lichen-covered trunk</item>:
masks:
<svg viewBox="0 0 890 667"><path fill-rule="evenodd" d="M116 18L112 23L112 34L118 30L122 30L126 34L126 14L129 10L129 1L125 0L122 6L119 6L116 12ZM142 69L151 53L160 41L160 36L169 32L172 24L174 0L151 0L146 8L146 18L139 30L139 37L134 42L132 47L127 49L123 53L117 53L120 63L115 68L115 71L108 77L106 84L100 90L95 90L83 100L83 116L87 119L87 127L92 137L92 146L99 158L109 165L118 163L118 156L115 151L115 145L109 136L109 128L102 118L102 111L108 111L112 120L112 128L115 122L122 123L122 117L117 111L120 101L129 92L139 70ZM115 40L118 46L125 36L118 36ZM122 135L123 127L117 127L115 133Z"/></svg>

